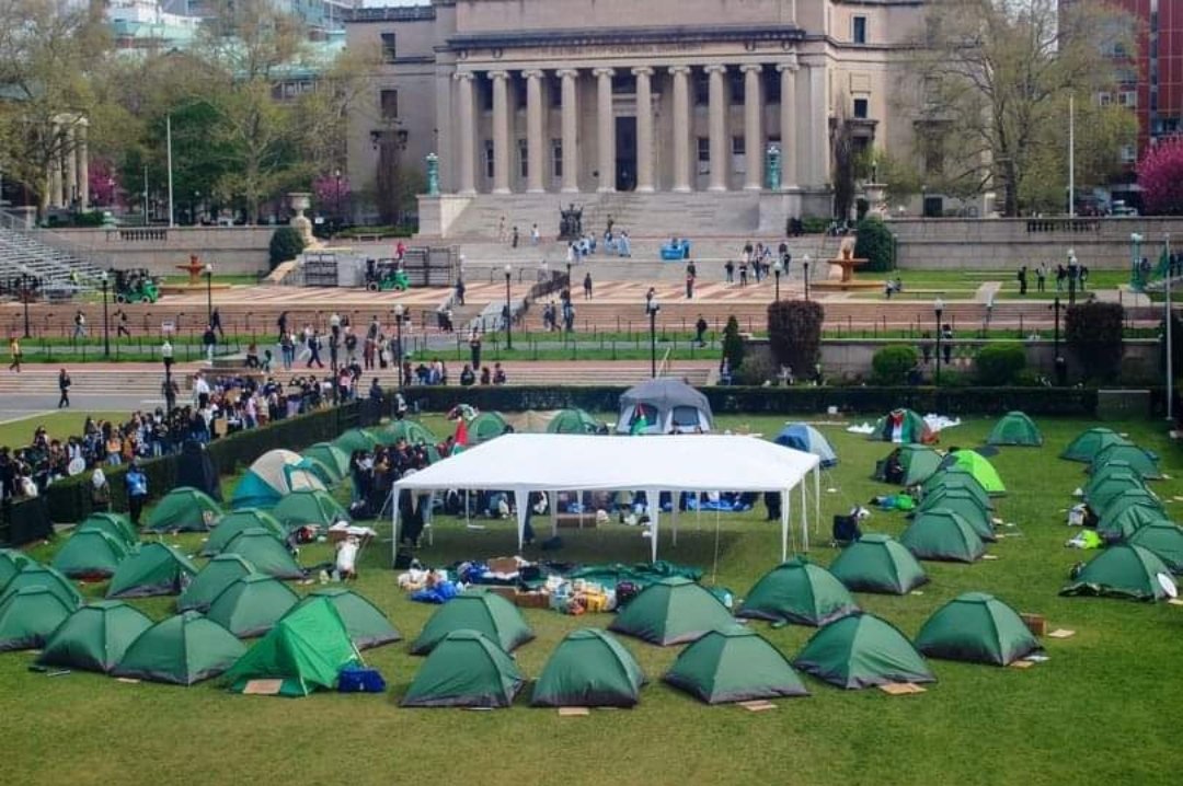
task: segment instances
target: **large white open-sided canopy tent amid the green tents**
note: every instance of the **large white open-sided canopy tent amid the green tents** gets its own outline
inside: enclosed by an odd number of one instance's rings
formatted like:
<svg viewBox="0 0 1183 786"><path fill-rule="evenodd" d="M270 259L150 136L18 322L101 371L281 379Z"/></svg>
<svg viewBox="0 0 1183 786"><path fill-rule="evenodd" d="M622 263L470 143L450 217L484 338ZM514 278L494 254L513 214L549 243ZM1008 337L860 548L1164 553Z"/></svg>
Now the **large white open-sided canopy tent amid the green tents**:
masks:
<svg viewBox="0 0 1183 786"><path fill-rule="evenodd" d="M817 456L750 436L675 435L613 437L567 434L506 434L437 462L397 481L395 491L448 488L512 491L522 547L531 492L644 489L649 500L653 559L658 556L661 492L780 492L781 559L789 552L790 492L801 487L801 532L808 547L806 485L814 474L814 514L820 515ZM394 508L394 547L399 506ZM554 512L554 496L551 496ZM677 538L677 506L674 506Z"/></svg>

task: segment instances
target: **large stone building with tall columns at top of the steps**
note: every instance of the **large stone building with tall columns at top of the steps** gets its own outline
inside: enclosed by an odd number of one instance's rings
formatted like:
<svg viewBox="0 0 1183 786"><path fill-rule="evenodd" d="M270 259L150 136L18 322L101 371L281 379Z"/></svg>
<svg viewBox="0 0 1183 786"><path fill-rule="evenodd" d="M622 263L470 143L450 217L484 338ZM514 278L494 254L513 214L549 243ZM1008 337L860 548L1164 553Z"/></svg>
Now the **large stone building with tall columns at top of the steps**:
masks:
<svg viewBox="0 0 1183 786"><path fill-rule="evenodd" d="M700 195L686 199L755 204L748 222L761 226L828 215L838 128L856 147L907 147L893 91L922 14L923 0L358 9L349 45L376 43L386 63L350 118L350 176L374 183L392 148L405 167L437 154L442 197L421 204L428 234L480 229L470 208L485 195L523 210Z"/></svg>

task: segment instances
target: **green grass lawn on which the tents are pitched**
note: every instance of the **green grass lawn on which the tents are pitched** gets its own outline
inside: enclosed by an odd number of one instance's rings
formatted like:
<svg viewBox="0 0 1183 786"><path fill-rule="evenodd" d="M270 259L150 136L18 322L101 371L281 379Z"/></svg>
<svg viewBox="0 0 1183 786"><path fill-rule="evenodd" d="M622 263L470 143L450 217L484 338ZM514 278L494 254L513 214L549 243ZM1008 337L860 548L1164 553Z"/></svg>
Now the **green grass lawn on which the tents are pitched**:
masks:
<svg viewBox="0 0 1183 786"><path fill-rule="evenodd" d="M771 417L720 417L719 426L775 434ZM397 700L420 660L406 643L366 652L384 675L386 695L321 694L304 700L225 693L215 682L182 689L125 684L75 673L49 678L26 670L30 652L0 655L5 781L12 784L403 784L414 780L496 784L1162 784L1183 764L1174 720L1183 702L1178 657L1183 609L1110 599L1061 598L1071 565L1082 552L1064 547L1071 493L1084 482L1082 465L1056 459L1091 423L1045 421L1042 449L1009 448L995 466L1009 493L1000 515L1015 526L989 551L996 561L926 563L932 583L923 595L858 595L868 611L914 635L927 616L956 595L993 592L1020 611L1041 612L1053 628L1077 635L1047 639L1051 660L1033 669L1001 669L932 661L938 682L927 693L890 697L878 690L842 691L806 678L808 699L776 702L750 714L706 707L667 688L660 676L677 649L632 639L651 684L632 710L593 710L561 719L531 709L529 688L517 706L498 712L407 710ZM442 422L429 418L442 433ZM944 444L978 444L990 426L974 420L948 431ZM868 480L888 446L822 427L841 457L823 488L817 544L828 520L886 486ZM1183 494L1183 459L1152 423L1116 426L1164 456L1171 480L1155 489ZM726 456L719 456L725 461ZM1170 502L1171 508L1179 507ZM661 557L697 565L705 583L742 596L778 556L778 527L763 509L681 520L678 546L662 527ZM865 526L897 534L900 514L875 513ZM635 527L563 531L554 559L638 561L648 541ZM176 540L195 551L199 535ZM513 527L487 522L480 532L437 521L434 546L421 557L435 565L513 552ZM49 558L53 546L33 550ZM302 561L328 556L306 548ZM829 563L834 550L810 557ZM526 551L538 557L537 550ZM389 544L363 556L356 589L387 611L408 638L434 611L408 602L395 586ZM297 587L304 590L305 587ZM97 597L103 586L88 587ZM155 617L172 598L137 602ZM528 677L537 677L562 636L580 626L607 626L607 616L564 617L526 610L538 638L517 652ZM756 625L790 657L813 632Z"/></svg>

